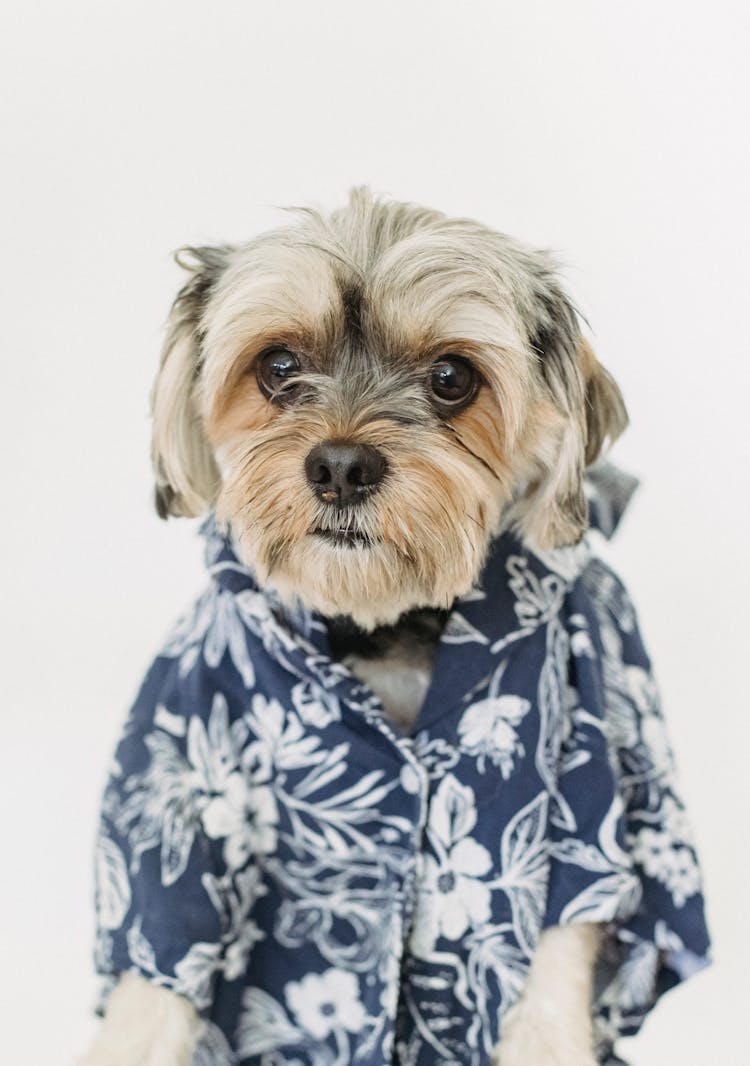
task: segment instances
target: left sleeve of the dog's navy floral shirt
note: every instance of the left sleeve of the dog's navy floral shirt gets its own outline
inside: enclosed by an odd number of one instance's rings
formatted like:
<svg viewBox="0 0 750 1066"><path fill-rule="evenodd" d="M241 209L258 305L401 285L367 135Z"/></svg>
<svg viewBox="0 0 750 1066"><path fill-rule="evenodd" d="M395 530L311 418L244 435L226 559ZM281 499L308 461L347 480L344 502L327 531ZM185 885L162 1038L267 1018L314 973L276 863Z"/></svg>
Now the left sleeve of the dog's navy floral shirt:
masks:
<svg viewBox="0 0 750 1066"><path fill-rule="evenodd" d="M176 660L152 666L107 784L96 849L96 965L105 976L140 973L206 1011L232 937L226 844L233 743L225 697L205 691L199 671L178 674Z"/></svg>

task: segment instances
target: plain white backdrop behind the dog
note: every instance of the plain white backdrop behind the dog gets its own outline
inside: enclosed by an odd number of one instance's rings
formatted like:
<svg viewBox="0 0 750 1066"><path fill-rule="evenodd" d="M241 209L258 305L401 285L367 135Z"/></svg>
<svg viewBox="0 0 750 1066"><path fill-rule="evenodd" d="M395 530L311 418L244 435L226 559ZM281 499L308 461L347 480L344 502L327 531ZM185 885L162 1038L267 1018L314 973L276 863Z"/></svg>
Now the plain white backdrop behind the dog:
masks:
<svg viewBox="0 0 750 1066"><path fill-rule="evenodd" d="M169 254L366 182L556 248L622 385L615 458L643 484L613 558L716 955L627 1051L748 1061L746 4L6 0L0 17L0 1059L66 1066L91 1034L104 769L203 580L195 523L151 508Z"/></svg>

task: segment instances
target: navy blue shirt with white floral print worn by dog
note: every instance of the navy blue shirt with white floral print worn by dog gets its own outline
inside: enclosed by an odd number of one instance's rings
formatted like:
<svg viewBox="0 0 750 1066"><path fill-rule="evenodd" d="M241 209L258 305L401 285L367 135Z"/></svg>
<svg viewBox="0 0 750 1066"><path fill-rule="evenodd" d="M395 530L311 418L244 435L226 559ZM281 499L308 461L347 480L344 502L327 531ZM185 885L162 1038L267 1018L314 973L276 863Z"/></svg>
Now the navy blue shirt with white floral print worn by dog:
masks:
<svg viewBox="0 0 750 1066"><path fill-rule="evenodd" d="M601 527L618 486L591 501ZM205 532L210 585L104 795L99 971L188 997L207 1020L194 1066L489 1066L541 930L604 922L594 1016L600 1061L619 1061L616 1037L708 942L618 578L588 542L542 555L501 536L405 737L322 619Z"/></svg>

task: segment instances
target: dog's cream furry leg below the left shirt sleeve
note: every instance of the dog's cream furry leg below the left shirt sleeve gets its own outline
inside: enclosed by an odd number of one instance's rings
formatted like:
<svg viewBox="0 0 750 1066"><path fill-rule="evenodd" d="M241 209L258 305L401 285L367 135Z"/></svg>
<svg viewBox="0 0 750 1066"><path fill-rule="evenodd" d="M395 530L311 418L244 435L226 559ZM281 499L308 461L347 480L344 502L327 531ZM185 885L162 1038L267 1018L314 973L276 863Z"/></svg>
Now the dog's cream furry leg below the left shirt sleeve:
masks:
<svg viewBox="0 0 750 1066"><path fill-rule="evenodd" d="M94 1046L77 1066L190 1066L201 1029L186 999L124 973Z"/></svg>

